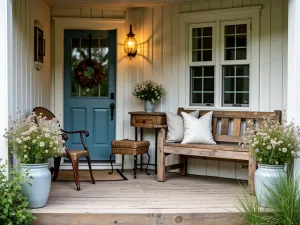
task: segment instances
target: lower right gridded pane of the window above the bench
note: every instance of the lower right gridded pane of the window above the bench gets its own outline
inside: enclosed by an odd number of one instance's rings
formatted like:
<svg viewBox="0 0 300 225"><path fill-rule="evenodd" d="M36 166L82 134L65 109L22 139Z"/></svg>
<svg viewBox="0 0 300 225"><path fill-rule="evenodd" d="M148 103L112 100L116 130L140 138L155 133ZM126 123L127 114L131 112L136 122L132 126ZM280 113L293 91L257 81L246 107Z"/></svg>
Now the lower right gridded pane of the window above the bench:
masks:
<svg viewBox="0 0 300 225"><path fill-rule="evenodd" d="M223 66L223 106L249 106L249 65Z"/></svg>

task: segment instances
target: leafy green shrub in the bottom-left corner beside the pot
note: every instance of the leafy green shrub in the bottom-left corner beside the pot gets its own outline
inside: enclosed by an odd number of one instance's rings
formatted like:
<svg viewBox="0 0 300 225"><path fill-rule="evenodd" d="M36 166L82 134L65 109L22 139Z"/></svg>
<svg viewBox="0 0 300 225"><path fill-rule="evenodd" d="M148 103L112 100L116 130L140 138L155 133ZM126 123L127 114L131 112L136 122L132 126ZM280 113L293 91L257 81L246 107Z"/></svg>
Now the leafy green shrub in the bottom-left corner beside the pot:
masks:
<svg viewBox="0 0 300 225"><path fill-rule="evenodd" d="M26 174L25 174L26 175ZM1 225L30 225L35 217L27 198L22 194L24 174L19 168L11 169L6 176L6 166L0 165L0 224Z"/></svg>

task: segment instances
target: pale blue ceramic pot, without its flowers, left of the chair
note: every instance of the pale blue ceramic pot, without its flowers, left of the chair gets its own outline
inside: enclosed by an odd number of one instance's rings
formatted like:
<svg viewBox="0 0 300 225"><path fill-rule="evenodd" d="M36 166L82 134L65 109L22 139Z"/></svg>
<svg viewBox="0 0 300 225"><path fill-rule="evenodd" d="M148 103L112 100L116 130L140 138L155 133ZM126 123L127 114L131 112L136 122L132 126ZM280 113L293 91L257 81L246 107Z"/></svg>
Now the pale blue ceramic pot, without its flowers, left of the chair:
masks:
<svg viewBox="0 0 300 225"><path fill-rule="evenodd" d="M33 209L44 207L47 204L51 188L51 173L48 163L21 164L21 170L24 173L28 171L22 187L22 192L29 200L28 207ZM31 185L28 184L28 181Z"/></svg>

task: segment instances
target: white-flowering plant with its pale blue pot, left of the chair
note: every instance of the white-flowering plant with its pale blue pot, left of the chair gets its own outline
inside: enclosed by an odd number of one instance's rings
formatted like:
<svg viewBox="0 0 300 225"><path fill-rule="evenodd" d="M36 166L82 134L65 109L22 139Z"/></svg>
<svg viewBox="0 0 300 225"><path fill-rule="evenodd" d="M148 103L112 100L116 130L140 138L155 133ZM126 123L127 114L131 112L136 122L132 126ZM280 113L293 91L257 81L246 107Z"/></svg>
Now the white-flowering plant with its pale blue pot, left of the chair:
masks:
<svg viewBox="0 0 300 225"><path fill-rule="evenodd" d="M22 191L28 197L30 208L44 207L51 188L48 159L65 152L59 123L56 119L47 120L35 113L24 118L18 111L11 124L4 137L25 174L26 182L23 183ZM31 184L28 184L28 180L31 180Z"/></svg>

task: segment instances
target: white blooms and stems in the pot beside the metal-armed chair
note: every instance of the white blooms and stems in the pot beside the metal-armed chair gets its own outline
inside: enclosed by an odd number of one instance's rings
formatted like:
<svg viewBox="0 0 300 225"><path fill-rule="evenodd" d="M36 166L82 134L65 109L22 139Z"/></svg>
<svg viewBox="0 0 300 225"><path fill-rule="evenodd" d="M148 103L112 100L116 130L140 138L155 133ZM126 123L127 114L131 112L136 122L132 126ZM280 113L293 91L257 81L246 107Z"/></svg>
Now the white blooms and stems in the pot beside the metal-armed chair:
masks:
<svg viewBox="0 0 300 225"><path fill-rule="evenodd" d="M27 118L18 110L11 127L5 130L8 147L20 163L47 163L48 159L65 152L65 141L56 118L47 120L43 115L32 113Z"/></svg>

